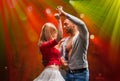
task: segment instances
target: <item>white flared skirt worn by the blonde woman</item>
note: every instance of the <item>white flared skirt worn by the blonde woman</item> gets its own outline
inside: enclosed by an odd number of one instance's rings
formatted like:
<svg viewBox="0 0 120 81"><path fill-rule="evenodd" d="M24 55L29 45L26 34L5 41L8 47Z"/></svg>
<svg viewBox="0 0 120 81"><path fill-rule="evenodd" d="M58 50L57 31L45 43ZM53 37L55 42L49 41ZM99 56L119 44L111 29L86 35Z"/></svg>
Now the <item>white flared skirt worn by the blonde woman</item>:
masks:
<svg viewBox="0 0 120 81"><path fill-rule="evenodd" d="M33 81L65 81L60 71L56 68L46 67Z"/></svg>

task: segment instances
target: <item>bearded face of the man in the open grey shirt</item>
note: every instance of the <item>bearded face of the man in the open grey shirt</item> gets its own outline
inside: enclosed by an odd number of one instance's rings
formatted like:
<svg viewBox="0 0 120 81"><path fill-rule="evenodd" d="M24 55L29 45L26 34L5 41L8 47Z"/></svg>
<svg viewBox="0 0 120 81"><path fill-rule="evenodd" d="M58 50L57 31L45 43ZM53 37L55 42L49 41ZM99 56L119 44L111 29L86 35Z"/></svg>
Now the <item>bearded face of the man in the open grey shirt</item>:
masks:
<svg viewBox="0 0 120 81"><path fill-rule="evenodd" d="M73 23L70 20L65 19L64 20L64 29L65 29L66 33L71 33L73 31Z"/></svg>

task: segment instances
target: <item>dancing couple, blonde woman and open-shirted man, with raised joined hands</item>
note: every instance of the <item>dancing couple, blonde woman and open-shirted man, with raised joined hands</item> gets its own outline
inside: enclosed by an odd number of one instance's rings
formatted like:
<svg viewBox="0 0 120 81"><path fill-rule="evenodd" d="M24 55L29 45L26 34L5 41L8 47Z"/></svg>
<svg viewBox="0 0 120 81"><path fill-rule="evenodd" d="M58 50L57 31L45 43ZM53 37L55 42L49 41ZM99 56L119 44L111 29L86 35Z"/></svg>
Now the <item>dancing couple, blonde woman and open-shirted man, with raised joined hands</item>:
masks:
<svg viewBox="0 0 120 81"><path fill-rule="evenodd" d="M88 81L88 29L82 20L65 12L62 6L56 10L58 13L54 16L58 27L47 22L40 33L38 48L45 69L34 81ZM64 28L61 17L65 17ZM64 38L63 29L68 34ZM66 72L65 77L59 70L61 68Z"/></svg>

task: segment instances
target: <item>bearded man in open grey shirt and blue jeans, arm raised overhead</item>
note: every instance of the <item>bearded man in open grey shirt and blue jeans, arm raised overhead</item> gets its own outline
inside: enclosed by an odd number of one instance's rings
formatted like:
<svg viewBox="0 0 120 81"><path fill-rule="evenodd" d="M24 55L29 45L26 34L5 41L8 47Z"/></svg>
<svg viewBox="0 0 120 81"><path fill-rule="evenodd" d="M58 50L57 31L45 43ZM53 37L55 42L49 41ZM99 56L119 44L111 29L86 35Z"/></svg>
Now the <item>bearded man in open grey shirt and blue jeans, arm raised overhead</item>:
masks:
<svg viewBox="0 0 120 81"><path fill-rule="evenodd" d="M61 62L66 70L66 81L88 81L89 70L87 61L87 49L89 43L89 32L85 23L66 13L62 6L57 7L61 16L66 17L64 20L64 29L68 37L61 44Z"/></svg>

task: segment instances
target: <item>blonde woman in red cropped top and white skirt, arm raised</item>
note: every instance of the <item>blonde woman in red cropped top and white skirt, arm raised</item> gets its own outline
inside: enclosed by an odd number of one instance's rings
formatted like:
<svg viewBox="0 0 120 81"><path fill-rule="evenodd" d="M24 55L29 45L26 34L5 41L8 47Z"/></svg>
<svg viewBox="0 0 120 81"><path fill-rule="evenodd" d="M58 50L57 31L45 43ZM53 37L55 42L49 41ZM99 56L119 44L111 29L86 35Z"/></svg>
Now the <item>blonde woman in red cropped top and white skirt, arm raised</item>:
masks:
<svg viewBox="0 0 120 81"><path fill-rule="evenodd" d="M42 27L38 46L45 69L34 81L64 81L59 71L60 52L57 48L63 31L59 14L55 14L55 18L58 21L58 31L52 23L45 23Z"/></svg>

